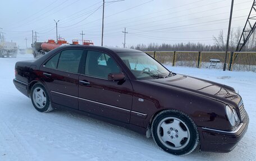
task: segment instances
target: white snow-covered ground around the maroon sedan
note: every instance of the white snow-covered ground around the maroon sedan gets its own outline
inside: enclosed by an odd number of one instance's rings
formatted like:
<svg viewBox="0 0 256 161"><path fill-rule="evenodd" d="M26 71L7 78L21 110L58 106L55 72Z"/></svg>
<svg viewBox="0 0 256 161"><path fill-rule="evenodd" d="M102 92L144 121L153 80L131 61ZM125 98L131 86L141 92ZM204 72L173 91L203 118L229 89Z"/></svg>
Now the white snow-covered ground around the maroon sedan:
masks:
<svg viewBox="0 0 256 161"><path fill-rule="evenodd" d="M40 113L13 85L16 61L31 54L0 58L0 160L255 160L256 73L168 67L171 71L233 86L250 117L247 133L230 153L194 151L176 157L153 139L67 111Z"/></svg>

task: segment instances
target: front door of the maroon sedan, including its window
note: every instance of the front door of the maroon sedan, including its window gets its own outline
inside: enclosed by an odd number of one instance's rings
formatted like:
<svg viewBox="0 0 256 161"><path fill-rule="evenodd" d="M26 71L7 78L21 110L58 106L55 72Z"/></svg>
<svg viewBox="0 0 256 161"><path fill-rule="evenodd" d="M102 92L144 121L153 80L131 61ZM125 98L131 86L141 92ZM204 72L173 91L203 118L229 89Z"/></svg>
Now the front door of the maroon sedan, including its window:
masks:
<svg viewBox="0 0 256 161"><path fill-rule="evenodd" d="M132 86L129 79L109 81L109 73L122 70L109 54L88 50L79 76L79 110L129 123Z"/></svg>

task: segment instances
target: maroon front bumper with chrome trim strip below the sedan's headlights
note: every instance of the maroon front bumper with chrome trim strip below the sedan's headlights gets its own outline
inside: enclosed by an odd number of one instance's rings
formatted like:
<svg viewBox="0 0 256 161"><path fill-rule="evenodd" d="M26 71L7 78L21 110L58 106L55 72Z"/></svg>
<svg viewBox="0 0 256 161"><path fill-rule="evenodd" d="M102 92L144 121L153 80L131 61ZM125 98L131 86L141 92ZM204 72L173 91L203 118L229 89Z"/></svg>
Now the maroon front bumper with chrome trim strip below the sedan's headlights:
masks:
<svg viewBox="0 0 256 161"><path fill-rule="evenodd" d="M200 149L202 151L212 151L227 153L233 150L238 142L243 138L249 125L249 117L245 112L245 118L233 131L214 130L205 127L198 127L200 134Z"/></svg>

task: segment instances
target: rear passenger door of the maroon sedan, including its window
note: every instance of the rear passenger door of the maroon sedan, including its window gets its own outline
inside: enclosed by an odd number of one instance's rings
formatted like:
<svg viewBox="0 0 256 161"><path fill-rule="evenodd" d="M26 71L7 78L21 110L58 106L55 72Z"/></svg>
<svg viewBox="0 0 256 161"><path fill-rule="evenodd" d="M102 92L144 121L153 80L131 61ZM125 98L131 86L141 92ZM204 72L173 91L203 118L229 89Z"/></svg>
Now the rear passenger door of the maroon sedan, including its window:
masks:
<svg viewBox="0 0 256 161"><path fill-rule="evenodd" d="M53 103L78 109L79 67L83 52L81 49L62 50L40 68Z"/></svg>

